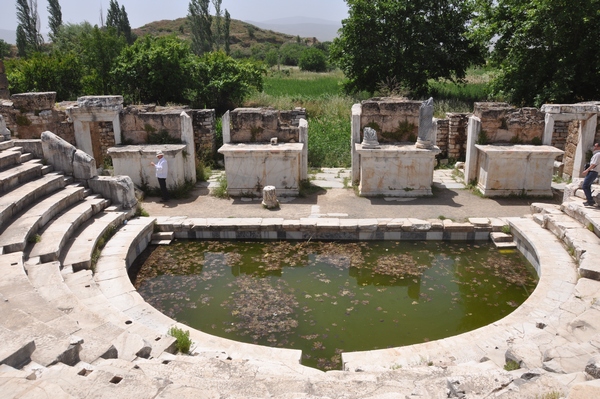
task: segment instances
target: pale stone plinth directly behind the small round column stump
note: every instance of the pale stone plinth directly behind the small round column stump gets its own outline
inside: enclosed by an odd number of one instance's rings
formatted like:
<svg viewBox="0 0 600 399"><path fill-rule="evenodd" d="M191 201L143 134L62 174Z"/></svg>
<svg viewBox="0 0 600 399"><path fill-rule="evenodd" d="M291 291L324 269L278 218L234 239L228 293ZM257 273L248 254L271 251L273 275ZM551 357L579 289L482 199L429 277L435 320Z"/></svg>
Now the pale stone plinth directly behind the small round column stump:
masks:
<svg viewBox="0 0 600 399"><path fill-rule="evenodd" d="M265 186L275 186L281 195L298 195L302 152L305 143L224 144L229 195L262 196Z"/></svg>

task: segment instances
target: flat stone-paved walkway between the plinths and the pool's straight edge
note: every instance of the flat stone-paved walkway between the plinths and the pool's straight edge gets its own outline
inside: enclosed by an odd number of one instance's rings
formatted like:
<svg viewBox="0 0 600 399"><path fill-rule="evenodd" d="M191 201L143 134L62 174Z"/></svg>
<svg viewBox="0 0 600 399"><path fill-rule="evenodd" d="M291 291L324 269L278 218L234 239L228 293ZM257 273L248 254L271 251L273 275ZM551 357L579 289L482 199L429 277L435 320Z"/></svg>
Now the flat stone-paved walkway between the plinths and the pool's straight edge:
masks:
<svg viewBox="0 0 600 399"><path fill-rule="evenodd" d="M146 198L143 208L151 216L187 216L215 218L403 218L451 219L457 222L472 217L520 217L530 212L533 198L482 198L466 189L452 176L452 170L434 171L433 196L422 198L365 198L359 197L350 182L349 168L323 168L309 174L311 183L322 190L306 197L279 197L281 207L268 210L261 205L262 198L220 199L210 195L218 187L224 172L213 173L208 182L198 183L189 198L159 202L160 198ZM556 189L554 199L560 203L562 187Z"/></svg>

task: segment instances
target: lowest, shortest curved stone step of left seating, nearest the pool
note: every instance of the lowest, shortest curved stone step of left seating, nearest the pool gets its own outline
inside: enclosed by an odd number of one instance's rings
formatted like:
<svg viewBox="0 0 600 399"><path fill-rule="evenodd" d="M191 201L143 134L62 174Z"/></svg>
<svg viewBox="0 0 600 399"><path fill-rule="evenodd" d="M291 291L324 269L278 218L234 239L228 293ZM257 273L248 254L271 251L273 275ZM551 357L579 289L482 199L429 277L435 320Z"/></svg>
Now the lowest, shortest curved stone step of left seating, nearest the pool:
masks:
<svg viewBox="0 0 600 399"><path fill-rule="evenodd" d="M65 245L65 256L61 256L63 267L71 268L74 272L89 269L94 250L102 236L111 229L118 228L125 217L124 212L103 211L83 223L75 232L74 238L69 239Z"/></svg>

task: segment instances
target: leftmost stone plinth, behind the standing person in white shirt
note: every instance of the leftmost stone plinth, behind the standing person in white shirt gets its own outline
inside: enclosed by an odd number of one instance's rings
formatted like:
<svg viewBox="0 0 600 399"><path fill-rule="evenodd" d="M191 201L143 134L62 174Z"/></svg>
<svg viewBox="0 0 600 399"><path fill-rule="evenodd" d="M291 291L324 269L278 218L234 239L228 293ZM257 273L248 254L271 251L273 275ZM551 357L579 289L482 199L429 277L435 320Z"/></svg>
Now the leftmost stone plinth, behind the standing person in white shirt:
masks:
<svg viewBox="0 0 600 399"><path fill-rule="evenodd" d="M169 165L167 188L174 189L185 184L186 177L191 175L191 171L186 170L190 167L186 162L190 155L185 148L185 144L128 145L109 148L108 155L112 158L115 175L131 177L137 187L158 188L156 170L150 163L156 163L156 151L161 150Z"/></svg>

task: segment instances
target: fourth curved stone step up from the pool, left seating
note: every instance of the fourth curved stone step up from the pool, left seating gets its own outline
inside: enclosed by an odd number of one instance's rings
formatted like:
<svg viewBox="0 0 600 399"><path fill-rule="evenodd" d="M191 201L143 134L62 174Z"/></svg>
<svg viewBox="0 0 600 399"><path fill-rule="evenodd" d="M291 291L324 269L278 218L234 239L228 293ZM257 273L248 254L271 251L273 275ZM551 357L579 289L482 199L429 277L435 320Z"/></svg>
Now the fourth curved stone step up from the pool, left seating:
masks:
<svg viewBox="0 0 600 399"><path fill-rule="evenodd" d="M0 227L30 204L64 186L63 175L49 173L5 193L0 197Z"/></svg>

